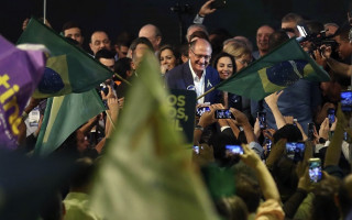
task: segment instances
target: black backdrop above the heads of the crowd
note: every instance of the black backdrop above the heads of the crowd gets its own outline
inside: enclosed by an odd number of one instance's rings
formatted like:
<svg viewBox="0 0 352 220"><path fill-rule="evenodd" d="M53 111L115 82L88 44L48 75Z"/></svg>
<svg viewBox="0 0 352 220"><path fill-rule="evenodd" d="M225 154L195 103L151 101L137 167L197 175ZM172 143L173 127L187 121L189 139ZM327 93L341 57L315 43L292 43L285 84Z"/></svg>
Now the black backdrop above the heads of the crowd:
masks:
<svg viewBox="0 0 352 220"><path fill-rule="evenodd" d="M85 47L94 30L106 30L112 42L122 31L138 35L146 24L157 25L164 43L179 43L178 14L170 10L176 3L188 4L191 14L183 14L187 28L205 0L47 0L47 20L53 29L77 21L84 29ZM224 9L219 9L206 18L205 24L211 32L224 28L232 35L245 35L255 44L255 32L261 24L279 28L280 19L288 12L296 12L307 19L323 23L346 21L351 8L349 0L228 0ZM25 18L43 16L43 0L1 0L0 34L15 43L22 32Z"/></svg>

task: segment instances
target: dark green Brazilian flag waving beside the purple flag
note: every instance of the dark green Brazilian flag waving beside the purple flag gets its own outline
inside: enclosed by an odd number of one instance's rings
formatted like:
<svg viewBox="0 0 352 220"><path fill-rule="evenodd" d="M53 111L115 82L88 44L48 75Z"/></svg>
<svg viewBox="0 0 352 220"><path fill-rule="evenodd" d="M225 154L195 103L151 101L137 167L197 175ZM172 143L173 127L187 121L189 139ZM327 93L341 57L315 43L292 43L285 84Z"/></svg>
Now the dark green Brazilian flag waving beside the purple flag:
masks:
<svg viewBox="0 0 352 220"><path fill-rule="evenodd" d="M50 51L44 75L34 98L84 92L110 78L113 73L81 48L55 33L36 19L31 19L18 44L43 44Z"/></svg>

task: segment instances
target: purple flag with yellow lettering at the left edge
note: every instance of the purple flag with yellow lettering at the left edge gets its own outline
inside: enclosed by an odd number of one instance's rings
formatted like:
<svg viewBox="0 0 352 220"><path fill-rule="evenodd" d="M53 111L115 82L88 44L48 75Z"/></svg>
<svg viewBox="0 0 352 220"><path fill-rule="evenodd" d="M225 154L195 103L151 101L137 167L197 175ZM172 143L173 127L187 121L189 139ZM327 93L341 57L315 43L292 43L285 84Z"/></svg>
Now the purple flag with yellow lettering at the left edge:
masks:
<svg viewBox="0 0 352 220"><path fill-rule="evenodd" d="M22 111L44 67L43 51L16 48L0 35L0 147L16 147Z"/></svg>

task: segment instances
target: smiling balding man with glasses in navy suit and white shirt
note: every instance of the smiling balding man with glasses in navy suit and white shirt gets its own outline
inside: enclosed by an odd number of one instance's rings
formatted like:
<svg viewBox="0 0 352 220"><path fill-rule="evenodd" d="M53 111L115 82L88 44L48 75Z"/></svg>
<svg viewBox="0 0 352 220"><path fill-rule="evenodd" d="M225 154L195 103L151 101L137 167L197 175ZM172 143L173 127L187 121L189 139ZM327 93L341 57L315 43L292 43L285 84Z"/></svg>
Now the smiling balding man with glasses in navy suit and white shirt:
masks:
<svg viewBox="0 0 352 220"><path fill-rule="evenodd" d="M198 38L191 42L188 51L189 61L166 73L166 86L169 89L194 90L199 97L219 84L218 72L208 66L211 52L211 45L207 40ZM198 99L198 103L217 103L219 98L220 92L213 90Z"/></svg>

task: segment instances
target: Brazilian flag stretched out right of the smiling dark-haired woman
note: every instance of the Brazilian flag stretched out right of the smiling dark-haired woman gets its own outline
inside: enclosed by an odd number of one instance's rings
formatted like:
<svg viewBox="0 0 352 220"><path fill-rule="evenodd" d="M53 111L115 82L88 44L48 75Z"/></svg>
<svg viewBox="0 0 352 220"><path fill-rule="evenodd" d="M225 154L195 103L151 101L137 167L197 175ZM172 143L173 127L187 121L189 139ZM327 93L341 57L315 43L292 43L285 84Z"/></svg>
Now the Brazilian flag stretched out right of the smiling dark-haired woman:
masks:
<svg viewBox="0 0 352 220"><path fill-rule="evenodd" d="M330 80L329 74L318 66L295 38L290 38L215 88L261 100L301 78L311 81Z"/></svg>

